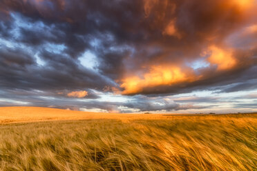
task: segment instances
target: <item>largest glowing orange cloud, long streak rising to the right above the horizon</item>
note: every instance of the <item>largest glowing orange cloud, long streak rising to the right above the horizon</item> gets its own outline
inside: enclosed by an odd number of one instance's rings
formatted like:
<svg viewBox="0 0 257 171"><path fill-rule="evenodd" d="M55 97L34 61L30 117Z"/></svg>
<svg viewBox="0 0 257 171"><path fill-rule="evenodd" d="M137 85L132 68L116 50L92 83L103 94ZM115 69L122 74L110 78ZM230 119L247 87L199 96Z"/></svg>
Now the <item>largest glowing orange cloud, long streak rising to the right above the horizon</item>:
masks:
<svg viewBox="0 0 257 171"><path fill-rule="evenodd" d="M233 49L229 48L220 48L213 45L209 46L200 55L207 57L207 61L211 65L205 67L198 74L187 67L182 67L178 63L174 63L173 66L166 64L149 66L149 72L144 72L142 77L134 74L131 77L122 79L120 86L124 89L122 94L137 94L145 92L144 90L146 89L155 91L161 86L172 87L183 85L184 83L202 81L210 77L207 70L211 70L213 66L216 66L216 72L213 74L218 74L219 72L234 70L238 63L238 59L234 57Z"/></svg>

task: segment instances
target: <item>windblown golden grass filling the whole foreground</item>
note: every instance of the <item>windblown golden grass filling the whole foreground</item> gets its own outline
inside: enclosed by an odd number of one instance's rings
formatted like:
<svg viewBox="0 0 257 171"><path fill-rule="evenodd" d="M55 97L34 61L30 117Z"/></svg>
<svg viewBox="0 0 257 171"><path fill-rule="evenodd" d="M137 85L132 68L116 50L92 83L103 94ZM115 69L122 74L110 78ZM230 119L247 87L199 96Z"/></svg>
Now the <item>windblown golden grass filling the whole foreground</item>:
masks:
<svg viewBox="0 0 257 171"><path fill-rule="evenodd" d="M257 114L0 124L0 170L257 170Z"/></svg>

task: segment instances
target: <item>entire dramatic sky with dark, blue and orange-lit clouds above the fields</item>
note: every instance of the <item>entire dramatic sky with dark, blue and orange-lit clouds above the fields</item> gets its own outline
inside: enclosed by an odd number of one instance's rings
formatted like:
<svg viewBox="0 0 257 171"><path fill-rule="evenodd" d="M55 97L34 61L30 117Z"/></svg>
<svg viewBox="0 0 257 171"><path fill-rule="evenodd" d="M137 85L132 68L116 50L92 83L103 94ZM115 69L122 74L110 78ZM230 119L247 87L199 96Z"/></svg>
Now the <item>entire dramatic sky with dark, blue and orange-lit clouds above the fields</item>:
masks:
<svg viewBox="0 0 257 171"><path fill-rule="evenodd" d="M0 0L0 106L257 111L256 0Z"/></svg>

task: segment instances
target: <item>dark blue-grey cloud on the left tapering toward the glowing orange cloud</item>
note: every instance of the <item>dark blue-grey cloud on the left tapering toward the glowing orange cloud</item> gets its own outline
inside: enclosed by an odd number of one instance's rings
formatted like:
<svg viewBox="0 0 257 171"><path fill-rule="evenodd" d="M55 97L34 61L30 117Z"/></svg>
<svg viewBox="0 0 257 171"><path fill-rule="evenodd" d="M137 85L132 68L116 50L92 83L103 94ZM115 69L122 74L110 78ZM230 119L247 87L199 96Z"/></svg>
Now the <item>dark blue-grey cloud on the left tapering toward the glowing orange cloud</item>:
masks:
<svg viewBox="0 0 257 171"><path fill-rule="evenodd" d="M62 54L42 51L40 57L46 66L37 66L35 58L23 50L0 49L1 88L22 90L75 90L94 88L102 90L111 81L93 70L83 68L78 61Z"/></svg>

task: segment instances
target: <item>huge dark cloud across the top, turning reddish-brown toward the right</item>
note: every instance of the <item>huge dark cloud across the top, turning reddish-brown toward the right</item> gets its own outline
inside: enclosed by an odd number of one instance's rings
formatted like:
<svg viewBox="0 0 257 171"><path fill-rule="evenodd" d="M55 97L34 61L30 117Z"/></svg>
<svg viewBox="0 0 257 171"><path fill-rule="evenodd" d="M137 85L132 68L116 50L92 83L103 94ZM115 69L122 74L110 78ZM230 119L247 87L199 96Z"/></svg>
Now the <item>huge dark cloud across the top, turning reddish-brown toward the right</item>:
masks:
<svg viewBox="0 0 257 171"><path fill-rule="evenodd" d="M146 4L147 3L147 4ZM111 34L117 43L156 43L185 47L234 30L244 19L235 4L209 1L1 1L8 12L19 12L32 21L55 25L70 35ZM146 6L149 6L146 8ZM206 8L208 7L208 8ZM147 13L147 14L146 14ZM175 22L182 39L163 34ZM99 37L99 36L97 36ZM68 39L67 39L68 40ZM78 40L75 39L74 43Z"/></svg>

